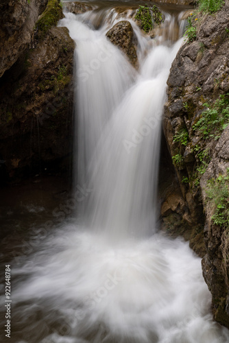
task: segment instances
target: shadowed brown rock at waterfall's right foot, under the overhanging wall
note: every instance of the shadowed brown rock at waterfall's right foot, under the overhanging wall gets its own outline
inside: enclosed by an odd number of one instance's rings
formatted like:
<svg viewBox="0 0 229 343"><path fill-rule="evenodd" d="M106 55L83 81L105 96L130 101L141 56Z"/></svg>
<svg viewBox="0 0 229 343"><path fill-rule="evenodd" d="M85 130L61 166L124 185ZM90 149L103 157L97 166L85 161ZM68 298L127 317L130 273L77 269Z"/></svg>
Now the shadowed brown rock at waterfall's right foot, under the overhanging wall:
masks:
<svg viewBox="0 0 229 343"><path fill-rule="evenodd" d="M158 202L160 206L160 219L162 220L162 230L167 235L178 237L182 235L189 246L199 255L204 257L206 247L204 244L204 220L199 217L193 220L191 209L191 193L182 193L176 169L171 161L165 137L162 138L160 149L160 173L158 185Z"/></svg>

